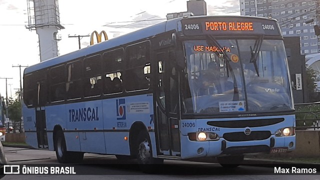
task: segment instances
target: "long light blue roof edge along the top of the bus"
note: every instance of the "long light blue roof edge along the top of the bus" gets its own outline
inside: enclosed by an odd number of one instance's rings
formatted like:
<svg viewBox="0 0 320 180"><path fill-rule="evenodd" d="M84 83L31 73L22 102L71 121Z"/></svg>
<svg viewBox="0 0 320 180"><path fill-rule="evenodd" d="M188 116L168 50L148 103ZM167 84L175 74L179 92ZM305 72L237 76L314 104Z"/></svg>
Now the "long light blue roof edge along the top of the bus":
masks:
<svg viewBox="0 0 320 180"><path fill-rule="evenodd" d="M226 17L226 18L234 18L234 17L241 17L241 18L259 18L259 19L267 19L265 17L254 17L254 16L239 16L239 15L228 15L228 16L222 16L222 15L214 15L214 16L190 16L187 17L185 19L195 19L195 18L203 18L203 17L214 17L214 18L219 18L219 17ZM151 25L112 39L108 39L106 41L102 41L100 43L94 44L94 45L90 45L88 47L84 47L82 49L61 55L61 56L57 56L57 57L53 57L51 59L47 59L44 60L42 62L36 63L34 65L31 65L29 67L26 67L24 69L24 73L30 73L33 72L35 70L39 70L45 67L49 67L55 64L59 64L59 63L63 63L66 62L68 60L71 59L76 59L76 58L80 58L83 56L87 56L90 55L92 53L96 53L108 48L113 48L122 44L126 44L132 41L136 41L139 39L143 39L146 37L150 37L165 31L169 31L169 30L173 30L176 29L177 31L180 30L178 29L178 21L180 21L183 18L174 18L174 19L170 19L167 21L163 21L160 22L158 24L155 25ZM268 18L269 20L271 20L270 18ZM272 19L275 20L275 19Z"/></svg>

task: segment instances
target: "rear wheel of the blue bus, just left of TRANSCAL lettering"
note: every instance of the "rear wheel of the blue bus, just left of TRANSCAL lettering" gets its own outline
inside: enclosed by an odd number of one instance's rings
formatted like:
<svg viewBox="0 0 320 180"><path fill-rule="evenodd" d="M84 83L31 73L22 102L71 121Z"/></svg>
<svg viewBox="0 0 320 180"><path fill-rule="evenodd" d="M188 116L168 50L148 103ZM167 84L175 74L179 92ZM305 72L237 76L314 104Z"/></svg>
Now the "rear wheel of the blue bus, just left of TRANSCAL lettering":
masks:
<svg viewBox="0 0 320 180"><path fill-rule="evenodd" d="M83 152L71 152L66 150L63 132L57 131L54 142L55 155L59 163L75 163L83 159Z"/></svg>

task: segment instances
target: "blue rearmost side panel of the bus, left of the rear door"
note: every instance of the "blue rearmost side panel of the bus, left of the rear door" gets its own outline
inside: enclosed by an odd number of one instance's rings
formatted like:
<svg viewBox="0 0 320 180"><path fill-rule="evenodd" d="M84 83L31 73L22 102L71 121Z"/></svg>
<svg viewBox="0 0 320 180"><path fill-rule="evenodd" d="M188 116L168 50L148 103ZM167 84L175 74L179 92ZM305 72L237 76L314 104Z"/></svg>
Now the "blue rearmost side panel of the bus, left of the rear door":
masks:
<svg viewBox="0 0 320 180"><path fill-rule="evenodd" d="M23 111L23 125L25 131L25 143L34 148L38 148L38 140L36 137L35 128L35 110L34 108L27 108L22 102Z"/></svg>

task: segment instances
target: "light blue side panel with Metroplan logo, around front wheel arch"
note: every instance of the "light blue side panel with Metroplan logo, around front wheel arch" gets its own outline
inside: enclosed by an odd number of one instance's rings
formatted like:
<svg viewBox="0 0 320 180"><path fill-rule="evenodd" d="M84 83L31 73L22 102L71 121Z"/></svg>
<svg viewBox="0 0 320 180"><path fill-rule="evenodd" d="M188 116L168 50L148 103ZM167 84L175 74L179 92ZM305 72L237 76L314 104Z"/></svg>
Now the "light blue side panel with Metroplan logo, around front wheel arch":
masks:
<svg viewBox="0 0 320 180"><path fill-rule="evenodd" d="M152 94L104 99L102 105L104 130L115 132L105 133L108 154L129 152L129 140L124 140L124 135L129 135L128 132L134 122L142 122L146 128L154 129ZM114 134L120 137L113 137ZM119 146L127 149L120 149Z"/></svg>

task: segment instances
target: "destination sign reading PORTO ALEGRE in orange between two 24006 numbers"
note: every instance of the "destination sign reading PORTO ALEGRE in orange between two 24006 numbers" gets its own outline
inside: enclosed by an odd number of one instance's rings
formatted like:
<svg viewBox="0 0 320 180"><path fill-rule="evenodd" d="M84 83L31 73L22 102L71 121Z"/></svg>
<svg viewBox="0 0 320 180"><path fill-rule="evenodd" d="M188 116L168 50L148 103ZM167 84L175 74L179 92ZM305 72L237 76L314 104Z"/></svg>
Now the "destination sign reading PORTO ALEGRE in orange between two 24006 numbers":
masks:
<svg viewBox="0 0 320 180"><path fill-rule="evenodd" d="M181 20L185 35L280 35L276 21L250 17L199 17Z"/></svg>

